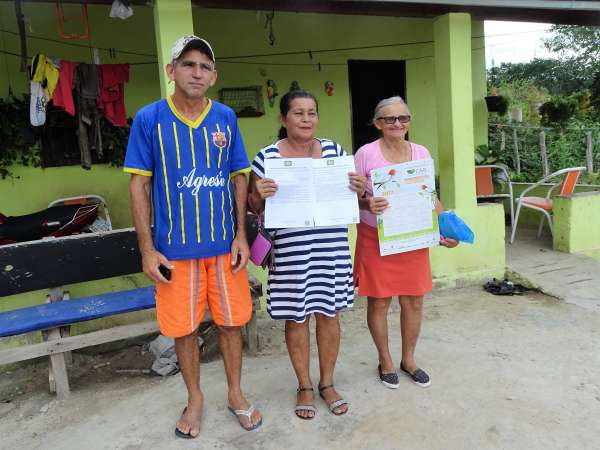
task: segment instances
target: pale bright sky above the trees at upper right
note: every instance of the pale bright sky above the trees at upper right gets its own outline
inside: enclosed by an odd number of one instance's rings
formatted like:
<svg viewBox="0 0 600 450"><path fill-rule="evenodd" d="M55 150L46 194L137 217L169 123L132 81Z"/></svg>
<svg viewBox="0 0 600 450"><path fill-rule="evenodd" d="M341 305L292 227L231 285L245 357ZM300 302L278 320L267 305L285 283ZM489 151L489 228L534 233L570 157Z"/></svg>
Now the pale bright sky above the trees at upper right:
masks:
<svg viewBox="0 0 600 450"><path fill-rule="evenodd" d="M542 44L550 24L530 22L485 21L486 66L503 62L527 62L553 55Z"/></svg>

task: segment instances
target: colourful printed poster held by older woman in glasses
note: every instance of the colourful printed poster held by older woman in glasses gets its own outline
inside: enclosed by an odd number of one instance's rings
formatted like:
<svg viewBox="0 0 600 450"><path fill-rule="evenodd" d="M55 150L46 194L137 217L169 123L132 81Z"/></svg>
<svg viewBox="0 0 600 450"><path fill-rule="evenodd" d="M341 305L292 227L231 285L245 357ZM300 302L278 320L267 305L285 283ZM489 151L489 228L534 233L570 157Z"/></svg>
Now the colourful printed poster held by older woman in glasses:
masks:
<svg viewBox="0 0 600 450"><path fill-rule="evenodd" d="M377 217L382 256L437 245L435 169L432 159L420 159L371 171L374 197L389 202Z"/></svg>

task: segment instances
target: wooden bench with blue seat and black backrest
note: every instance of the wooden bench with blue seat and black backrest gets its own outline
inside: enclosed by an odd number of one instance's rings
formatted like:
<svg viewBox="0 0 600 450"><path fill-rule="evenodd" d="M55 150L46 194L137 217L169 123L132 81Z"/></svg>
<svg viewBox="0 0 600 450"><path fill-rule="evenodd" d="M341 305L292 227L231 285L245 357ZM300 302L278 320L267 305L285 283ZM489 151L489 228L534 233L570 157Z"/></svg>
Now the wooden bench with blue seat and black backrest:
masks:
<svg viewBox="0 0 600 450"><path fill-rule="evenodd" d="M49 356L50 390L59 400L67 397L67 366L72 350L155 333L158 324L141 322L70 336L69 326L74 323L154 308L154 286L72 300L60 286L139 272L141 257L132 228L0 247L0 300L7 295L50 288L47 303L0 313L0 339L36 331L41 331L44 339L0 351L0 364ZM245 335L248 349L254 354L259 344L256 310L262 287L253 277L250 286L253 313Z"/></svg>

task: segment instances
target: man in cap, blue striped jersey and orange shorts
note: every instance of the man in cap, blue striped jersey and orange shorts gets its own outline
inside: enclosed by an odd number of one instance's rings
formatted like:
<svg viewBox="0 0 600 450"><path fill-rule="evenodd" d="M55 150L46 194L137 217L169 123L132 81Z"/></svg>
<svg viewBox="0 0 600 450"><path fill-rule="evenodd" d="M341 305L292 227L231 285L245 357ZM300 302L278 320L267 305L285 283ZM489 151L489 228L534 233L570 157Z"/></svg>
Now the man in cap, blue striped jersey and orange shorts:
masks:
<svg viewBox="0 0 600 450"><path fill-rule="evenodd" d="M200 432L197 329L207 305L219 328L228 408L243 428L253 430L262 418L240 387L240 327L252 314L244 269L249 256L244 221L250 164L235 113L206 97L217 81L210 44L184 36L175 42L171 57L166 71L175 92L137 113L124 170L132 174L133 222L144 273L156 282L160 330L175 338L188 391L175 434L194 438Z"/></svg>

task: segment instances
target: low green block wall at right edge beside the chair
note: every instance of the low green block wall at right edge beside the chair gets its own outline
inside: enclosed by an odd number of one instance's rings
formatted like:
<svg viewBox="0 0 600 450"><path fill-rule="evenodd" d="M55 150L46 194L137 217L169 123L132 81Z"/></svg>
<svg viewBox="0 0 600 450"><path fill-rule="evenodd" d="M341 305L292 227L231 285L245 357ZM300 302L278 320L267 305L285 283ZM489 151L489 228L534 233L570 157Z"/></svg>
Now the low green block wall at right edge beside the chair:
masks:
<svg viewBox="0 0 600 450"><path fill-rule="evenodd" d="M557 196L554 209L554 249L567 252L600 251L600 192Z"/></svg>

